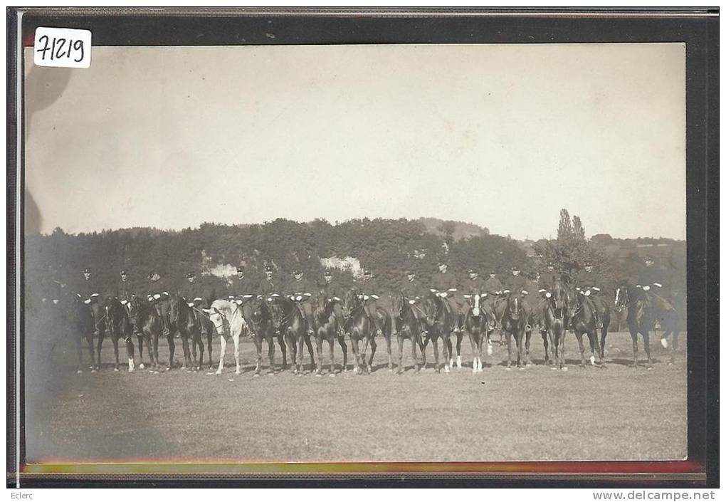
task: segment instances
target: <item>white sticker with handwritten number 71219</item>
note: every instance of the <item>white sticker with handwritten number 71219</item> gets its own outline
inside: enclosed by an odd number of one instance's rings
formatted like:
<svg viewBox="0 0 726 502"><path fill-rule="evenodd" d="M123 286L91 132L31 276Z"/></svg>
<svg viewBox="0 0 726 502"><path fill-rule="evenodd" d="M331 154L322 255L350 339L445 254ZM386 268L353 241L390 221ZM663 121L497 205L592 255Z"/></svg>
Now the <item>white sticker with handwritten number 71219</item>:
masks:
<svg viewBox="0 0 726 502"><path fill-rule="evenodd" d="M71 28L36 28L33 62L38 66L89 68L91 31Z"/></svg>

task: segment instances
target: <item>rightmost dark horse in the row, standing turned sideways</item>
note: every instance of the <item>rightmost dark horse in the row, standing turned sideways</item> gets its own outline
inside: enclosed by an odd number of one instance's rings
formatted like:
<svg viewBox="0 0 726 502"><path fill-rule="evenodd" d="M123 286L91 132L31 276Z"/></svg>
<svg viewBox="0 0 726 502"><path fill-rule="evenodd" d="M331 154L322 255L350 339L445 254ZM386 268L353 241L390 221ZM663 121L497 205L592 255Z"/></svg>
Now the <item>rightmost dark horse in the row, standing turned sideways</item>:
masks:
<svg viewBox="0 0 726 502"><path fill-rule="evenodd" d="M648 286L646 286L648 287ZM615 290L615 310L625 315L628 331L633 342L632 368L637 368L637 335L643 336L643 347L648 357L647 368L653 369L650 359L650 330L655 325L656 318L661 317L664 324L664 335L675 333L678 330L678 315L675 309L660 296L649 292L649 289L635 288L627 283L621 283ZM674 346L675 344L673 344ZM673 352L669 364L673 363Z"/></svg>

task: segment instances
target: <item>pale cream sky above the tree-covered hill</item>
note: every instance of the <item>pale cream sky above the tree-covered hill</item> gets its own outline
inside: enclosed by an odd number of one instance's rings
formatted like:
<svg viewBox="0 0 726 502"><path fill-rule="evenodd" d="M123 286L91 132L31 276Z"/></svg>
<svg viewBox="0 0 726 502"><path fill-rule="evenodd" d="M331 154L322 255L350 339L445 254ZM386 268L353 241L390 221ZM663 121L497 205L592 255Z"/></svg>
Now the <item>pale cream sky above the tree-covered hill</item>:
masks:
<svg viewBox="0 0 726 502"><path fill-rule="evenodd" d="M542 238L564 207L588 236L685 239L684 44L25 56L41 232L433 216Z"/></svg>

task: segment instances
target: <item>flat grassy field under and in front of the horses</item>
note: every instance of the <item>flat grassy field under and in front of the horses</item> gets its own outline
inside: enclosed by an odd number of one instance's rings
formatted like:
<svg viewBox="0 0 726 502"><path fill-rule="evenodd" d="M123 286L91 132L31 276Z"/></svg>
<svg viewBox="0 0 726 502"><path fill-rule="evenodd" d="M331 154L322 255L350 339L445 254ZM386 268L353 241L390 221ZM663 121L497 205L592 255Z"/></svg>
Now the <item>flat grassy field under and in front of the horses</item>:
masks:
<svg viewBox="0 0 726 502"><path fill-rule="evenodd" d="M605 369L580 368L576 341L568 334L569 371L552 371L543 365L536 335L534 365L523 370L507 371L502 365L506 347L495 344L484 371L472 373L465 339L465 368L435 373L429 347L428 368L416 374L406 341L408 368L396 376L386 368L380 341L372 374L348 371L335 378L290 371L253 378L250 341L242 344L242 376L234 375L230 352L221 376L178 368L128 373L126 365L116 373L109 341L101 371L76 374L72 344L59 346L52 363L41 363L48 360L49 344L32 338L28 347L36 349L26 356L25 387L29 462L650 460L686 455L685 351L666 365L668 355L656 339L653 370L632 369L627 333L608 336ZM392 345L395 355L395 339ZM162 346L163 360L168 352L165 342ZM642 342L640 349L643 360ZM177 360L180 352L178 347ZM279 349L276 354L279 361ZM213 356L219 356L218 340ZM340 368L339 347L335 357ZM148 363L146 355L144 360ZM306 363L309 368L307 357Z"/></svg>

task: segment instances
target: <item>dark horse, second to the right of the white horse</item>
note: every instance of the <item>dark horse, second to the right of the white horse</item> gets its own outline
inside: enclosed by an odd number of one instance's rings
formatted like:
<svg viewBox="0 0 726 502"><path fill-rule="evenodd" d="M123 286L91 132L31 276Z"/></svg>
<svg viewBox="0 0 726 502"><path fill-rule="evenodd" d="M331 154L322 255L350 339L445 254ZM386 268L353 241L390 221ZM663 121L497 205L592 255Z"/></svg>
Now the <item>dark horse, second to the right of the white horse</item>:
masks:
<svg viewBox="0 0 726 502"><path fill-rule="evenodd" d="M296 375L302 374L304 369L303 345L308 347L313 365L315 365L315 357L310 334L308 333L308 325L301 307L293 299L278 294L269 296L269 306L272 312L272 325L275 331L281 333L282 339L285 340L287 346L287 352L290 352L290 364L293 366L293 373Z"/></svg>

